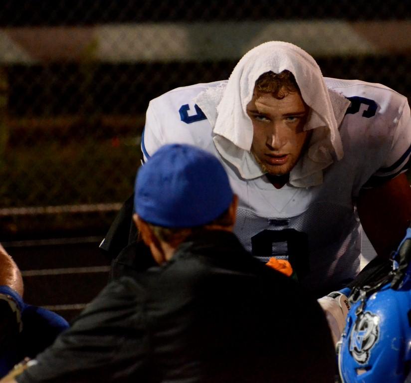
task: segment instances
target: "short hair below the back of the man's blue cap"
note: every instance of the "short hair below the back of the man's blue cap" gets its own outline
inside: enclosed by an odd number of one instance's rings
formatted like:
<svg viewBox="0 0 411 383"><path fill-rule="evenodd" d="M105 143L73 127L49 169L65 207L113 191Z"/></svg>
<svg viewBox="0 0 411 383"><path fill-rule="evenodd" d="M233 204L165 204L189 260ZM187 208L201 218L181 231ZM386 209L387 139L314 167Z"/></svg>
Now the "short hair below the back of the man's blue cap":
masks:
<svg viewBox="0 0 411 383"><path fill-rule="evenodd" d="M149 227L153 230L154 235L161 241L170 244L180 243L184 241L189 235L200 233L207 230L207 226L222 226L229 227L233 224L229 208L221 215L201 226L194 227L163 227L156 226L146 221Z"/></svg>

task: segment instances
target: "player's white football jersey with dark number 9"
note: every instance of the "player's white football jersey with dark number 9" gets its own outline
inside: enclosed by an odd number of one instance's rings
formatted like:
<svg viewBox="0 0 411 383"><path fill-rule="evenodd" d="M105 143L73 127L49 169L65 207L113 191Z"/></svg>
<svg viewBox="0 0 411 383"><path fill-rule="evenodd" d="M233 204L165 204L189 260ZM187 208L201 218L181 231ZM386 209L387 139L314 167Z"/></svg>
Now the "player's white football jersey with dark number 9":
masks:
<svg viewBox="0 0 411 383"><path fill-rule="evenodd" d="M244 180L218 155L212 127L194 103L221 81L174 89L150 102L142 137L147 160L161 145L187 143L220 158L239 197L234 231L262 261L288 258L312 291L343 287L357 275L361 225L355 198L404 172L411 152L406 97L380 84L325 78L328 88L351 101L339 127L344 157L324 171L321 185L276 189L265 176Z"/></svg>

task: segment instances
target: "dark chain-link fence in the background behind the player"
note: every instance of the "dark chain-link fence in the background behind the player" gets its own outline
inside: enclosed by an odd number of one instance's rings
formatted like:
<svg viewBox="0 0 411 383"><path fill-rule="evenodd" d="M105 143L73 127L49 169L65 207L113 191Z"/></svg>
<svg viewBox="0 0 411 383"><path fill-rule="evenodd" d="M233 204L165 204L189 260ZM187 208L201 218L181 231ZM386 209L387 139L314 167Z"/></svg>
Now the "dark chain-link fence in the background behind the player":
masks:
<svg viewBox="0 0 411 383"><path fill-rule="evenodd" d="M104 232L153 97L227 78L268 40L411 98L408 1L0 2L0 240Z"/></svg>

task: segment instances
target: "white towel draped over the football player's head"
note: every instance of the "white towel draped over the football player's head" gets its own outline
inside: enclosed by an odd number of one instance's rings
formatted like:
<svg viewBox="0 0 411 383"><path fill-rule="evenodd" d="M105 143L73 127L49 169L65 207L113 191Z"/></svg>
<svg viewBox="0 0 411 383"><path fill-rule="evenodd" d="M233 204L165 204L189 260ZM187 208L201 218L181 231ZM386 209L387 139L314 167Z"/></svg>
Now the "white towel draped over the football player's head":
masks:
<svg viewBox="0 0 411 383"><path fill-rule="evenodd" d="M260 177L263 173L250 153L253 128L246 106L262 73L286 69L294 74L302 98L311 108L304 129L313 129L308 150L291 171L289 183L296 187L319 185L322 170L334 158L344 156L338 126L350 101L327 88L319 66L307 52L288 42L265 42L240 59L226 85L206 90L196 103L213 125L213 140L220 155L242 178Z"/></svg>

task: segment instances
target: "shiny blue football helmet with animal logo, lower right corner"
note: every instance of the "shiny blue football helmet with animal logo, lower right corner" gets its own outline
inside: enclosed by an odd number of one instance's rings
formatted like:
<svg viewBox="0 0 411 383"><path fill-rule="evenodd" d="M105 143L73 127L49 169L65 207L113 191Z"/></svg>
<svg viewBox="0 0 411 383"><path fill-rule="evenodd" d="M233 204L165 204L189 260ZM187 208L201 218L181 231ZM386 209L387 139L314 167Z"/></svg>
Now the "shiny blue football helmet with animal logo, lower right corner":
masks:
<svg viewBox="0 0 411 383"><path fill-rule="evenodd" d="M344 383L411 383L411 227L393 270L350 297L338 345Z"/></svg>

